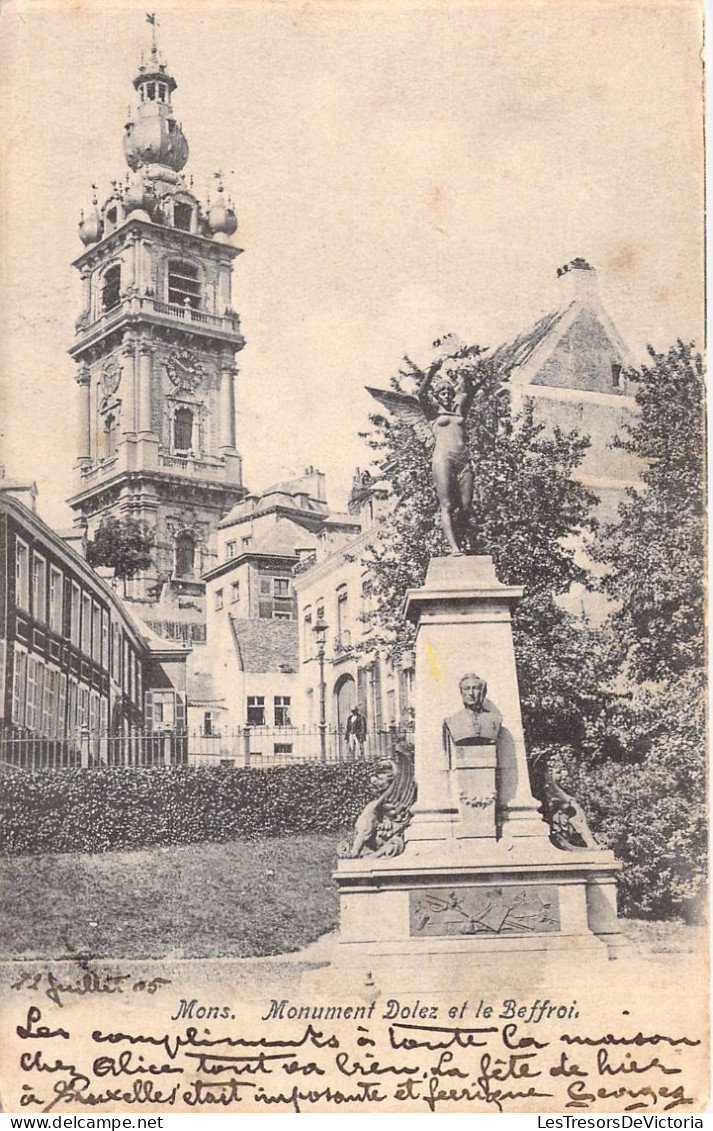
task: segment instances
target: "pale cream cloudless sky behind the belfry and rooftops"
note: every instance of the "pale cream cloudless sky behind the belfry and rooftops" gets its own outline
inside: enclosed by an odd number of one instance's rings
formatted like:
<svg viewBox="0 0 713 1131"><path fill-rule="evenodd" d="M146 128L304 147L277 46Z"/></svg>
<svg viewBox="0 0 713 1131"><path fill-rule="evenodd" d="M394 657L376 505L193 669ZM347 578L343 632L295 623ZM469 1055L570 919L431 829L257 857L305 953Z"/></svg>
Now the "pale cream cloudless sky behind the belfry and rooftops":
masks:
<svg viewBox="0 0 713 1131"><path fill-rule="evenodd" d="M598 0L155 0L186 173L222 170L251 490L313 465L345 507L405 353L497 345L584 256L634 356L702 340L701 8ZM0 14L0 460L71 513L79 209L123 179L146 3Z"/></svg>

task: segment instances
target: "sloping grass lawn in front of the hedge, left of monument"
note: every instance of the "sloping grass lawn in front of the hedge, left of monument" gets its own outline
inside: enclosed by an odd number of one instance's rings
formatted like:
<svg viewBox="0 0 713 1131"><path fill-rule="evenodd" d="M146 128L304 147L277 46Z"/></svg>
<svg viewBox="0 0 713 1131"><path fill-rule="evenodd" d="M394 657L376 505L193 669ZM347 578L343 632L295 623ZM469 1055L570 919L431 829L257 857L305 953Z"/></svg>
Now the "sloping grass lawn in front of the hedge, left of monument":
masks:
<svg viewBox="0 0 713 1131"><path fill-rule="evenodd" d="M340 837L0 860L0 957L221 958L298 950L337 924Z"/></svg>

